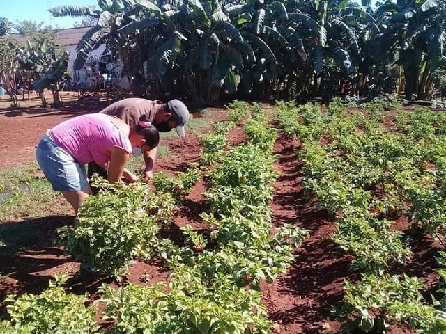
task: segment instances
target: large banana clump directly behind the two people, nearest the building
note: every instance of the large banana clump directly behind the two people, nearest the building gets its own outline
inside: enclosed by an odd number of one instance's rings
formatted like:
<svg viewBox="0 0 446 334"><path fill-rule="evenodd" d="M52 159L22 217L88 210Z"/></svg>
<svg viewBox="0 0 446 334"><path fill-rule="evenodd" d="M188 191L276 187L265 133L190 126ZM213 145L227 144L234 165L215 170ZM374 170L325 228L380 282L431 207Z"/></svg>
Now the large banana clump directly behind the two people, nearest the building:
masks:
<svg viewBox="0 0 446 334"><path fill-rule="evenodd" d="M235 92L243 59L254 57L254 52L219 1L157 1L157 8L120 29L144 36L153 93L175 92L194 101L215 102L222 89Z"/></svg>

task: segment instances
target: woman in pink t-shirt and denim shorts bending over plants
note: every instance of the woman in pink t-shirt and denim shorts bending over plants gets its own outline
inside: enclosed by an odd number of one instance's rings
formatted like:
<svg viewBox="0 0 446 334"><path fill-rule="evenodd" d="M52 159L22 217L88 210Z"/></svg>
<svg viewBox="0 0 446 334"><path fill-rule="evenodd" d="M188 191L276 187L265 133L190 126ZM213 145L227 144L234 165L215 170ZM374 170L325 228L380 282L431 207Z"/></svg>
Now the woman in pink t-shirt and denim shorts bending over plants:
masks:
<svg viewBox="0 0 446 334"><path fill-rule="evenodd" d="M103 113L77 116L56 125L37 145L36 159L54 191L61 191L75 214L91 194L85 165L107 168L110 183L137 177L125 169L133 148L152 150L160 141L157 129L143 115L130 128L123 120Z"/></svg>

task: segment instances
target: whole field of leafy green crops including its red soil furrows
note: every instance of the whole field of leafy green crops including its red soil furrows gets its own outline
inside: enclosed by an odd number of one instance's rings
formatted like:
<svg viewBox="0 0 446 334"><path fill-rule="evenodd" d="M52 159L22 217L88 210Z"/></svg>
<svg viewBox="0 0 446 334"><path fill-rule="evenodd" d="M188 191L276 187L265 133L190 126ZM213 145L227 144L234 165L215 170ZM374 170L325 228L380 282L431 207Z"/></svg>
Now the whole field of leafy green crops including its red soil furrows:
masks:
<svg viewBox="0 0 446 334"><path fill-rule="evenodd" d="M0 333L446 333L443 111L235 100L202 118L166 140L153 189L95 180L76 230L0 225Z"/></svg>

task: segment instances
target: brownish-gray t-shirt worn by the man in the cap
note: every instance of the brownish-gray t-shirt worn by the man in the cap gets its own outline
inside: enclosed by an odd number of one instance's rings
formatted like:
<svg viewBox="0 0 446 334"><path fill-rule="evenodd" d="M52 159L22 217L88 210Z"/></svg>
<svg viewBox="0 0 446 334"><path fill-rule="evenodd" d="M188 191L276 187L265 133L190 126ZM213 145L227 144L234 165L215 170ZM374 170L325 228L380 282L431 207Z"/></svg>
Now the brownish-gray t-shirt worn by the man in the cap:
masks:
<svg viewBox="0 0 446 334"><path fill-rule="evenodd" d="M157 103L152 100L130 97L110 104L105 109L102 109L100 113L121 118L121 120L132 127L138 124L139 117L144 114L147 115L149 121L153 122L156 110L155 104Z"/></svg>

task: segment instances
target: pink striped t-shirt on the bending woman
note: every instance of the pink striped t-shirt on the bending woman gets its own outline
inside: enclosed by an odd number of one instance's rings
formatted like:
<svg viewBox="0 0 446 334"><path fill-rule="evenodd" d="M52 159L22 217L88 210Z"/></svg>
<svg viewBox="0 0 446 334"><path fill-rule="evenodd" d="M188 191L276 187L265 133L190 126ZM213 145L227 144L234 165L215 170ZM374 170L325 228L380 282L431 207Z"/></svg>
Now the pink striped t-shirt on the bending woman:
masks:
<svg viewBox="0 0 446 334"><path fill-rule="evenodd" d="M79 164L95 161L104 166L112 157L112 148L132 153L128 135L118 129L110 116L102 113L77 116L53 127L53 140Z"/></svg>

